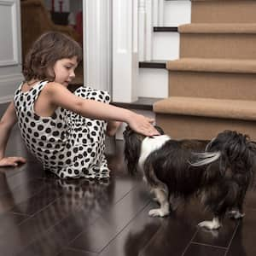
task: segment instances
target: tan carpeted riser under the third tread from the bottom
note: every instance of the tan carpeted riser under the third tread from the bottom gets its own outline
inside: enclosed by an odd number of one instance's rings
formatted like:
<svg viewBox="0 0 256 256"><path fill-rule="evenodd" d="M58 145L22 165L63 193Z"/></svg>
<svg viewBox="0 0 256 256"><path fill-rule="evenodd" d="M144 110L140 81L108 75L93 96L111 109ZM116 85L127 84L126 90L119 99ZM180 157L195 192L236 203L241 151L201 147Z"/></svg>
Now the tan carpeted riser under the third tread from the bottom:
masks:
<svg viewBox="0 0 256 256"><path fill-rule="evenodd" d="M183 33L180 57L256 58L256 34Z"/></svg>

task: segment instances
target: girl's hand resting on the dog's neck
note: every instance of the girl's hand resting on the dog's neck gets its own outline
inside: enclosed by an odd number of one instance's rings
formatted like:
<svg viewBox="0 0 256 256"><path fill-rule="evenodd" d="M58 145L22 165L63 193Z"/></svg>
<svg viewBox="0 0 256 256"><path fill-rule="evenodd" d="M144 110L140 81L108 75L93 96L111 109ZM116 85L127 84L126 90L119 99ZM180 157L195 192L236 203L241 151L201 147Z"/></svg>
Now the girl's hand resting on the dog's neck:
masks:
<svg viewBox="0 0 256 256"><path fill-rule="evenodd" d="M134 113L131 116L128 125L132 130L137 131L145 136L152 137L154 135L160 135L160 133L154 128L154 119L149 119L142 114Z"/></svg>

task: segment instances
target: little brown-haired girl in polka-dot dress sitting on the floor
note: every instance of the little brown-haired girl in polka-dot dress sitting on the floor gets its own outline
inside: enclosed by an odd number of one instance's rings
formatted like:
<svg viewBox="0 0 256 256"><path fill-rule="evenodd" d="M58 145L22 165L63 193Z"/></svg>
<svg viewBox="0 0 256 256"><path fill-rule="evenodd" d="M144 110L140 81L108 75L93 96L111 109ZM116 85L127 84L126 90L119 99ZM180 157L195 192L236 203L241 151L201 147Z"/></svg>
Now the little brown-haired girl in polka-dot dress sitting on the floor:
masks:
<svg viewBox="0 0 256 256"><path fill-rule="evenodd" d="M152 119L109 105L106 91L90 87L79 87L74 93L67 90L81 56L79 44L58 32L47 32L32 45L23 68L25 81L0 122L0 166L26 162L4 156L17 121L26 147L45 170L61 178L109 177L105 132L113 135L119 121L146 136L158 134Z"/></svg>

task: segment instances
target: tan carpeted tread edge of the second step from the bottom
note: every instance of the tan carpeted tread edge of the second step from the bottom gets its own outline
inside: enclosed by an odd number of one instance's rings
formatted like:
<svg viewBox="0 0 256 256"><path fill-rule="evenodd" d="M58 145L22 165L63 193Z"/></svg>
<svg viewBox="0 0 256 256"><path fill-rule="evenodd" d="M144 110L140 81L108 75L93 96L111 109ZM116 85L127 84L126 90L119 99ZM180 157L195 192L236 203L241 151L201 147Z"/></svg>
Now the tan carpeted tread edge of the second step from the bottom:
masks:
<svg viewBox="0 0 256 256"><path fill-rule="evenodd" d="M166 68L172 71L256 73L256 60L181 58L167 61Z"/></svg>

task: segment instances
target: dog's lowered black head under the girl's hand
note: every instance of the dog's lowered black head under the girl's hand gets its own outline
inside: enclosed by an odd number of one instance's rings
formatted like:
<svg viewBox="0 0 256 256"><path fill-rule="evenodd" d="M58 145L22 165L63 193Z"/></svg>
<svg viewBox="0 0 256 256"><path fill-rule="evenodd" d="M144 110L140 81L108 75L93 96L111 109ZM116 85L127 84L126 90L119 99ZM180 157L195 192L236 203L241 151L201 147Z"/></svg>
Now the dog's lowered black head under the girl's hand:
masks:
<svg viewBox="0 0 256 256"><path fill-rule="evenodd" d="M162 135L164 131L159 126L154 126ZM128 172L135 174L137 172L137 164L141 154L141 146L145 136L131 130L129 126L126 126L124 131L125 139L125 161L127 163Z"/></svg>

